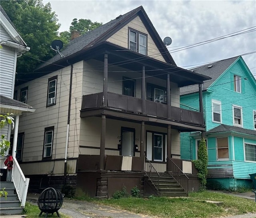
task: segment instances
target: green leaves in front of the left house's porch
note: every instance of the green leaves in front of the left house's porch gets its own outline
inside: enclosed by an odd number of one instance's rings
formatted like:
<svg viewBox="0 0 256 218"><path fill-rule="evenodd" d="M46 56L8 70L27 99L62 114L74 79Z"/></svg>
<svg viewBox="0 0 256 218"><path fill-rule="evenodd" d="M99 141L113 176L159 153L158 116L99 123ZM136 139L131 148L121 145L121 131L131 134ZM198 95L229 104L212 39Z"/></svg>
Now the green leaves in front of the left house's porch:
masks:
<svg viewBox="0 0 256 218"><path fill-rule="evenodd" d="M2 129L6 125L12 125L14 127L14 118L12 118L13 114L0 115L0 129ZM8 148L10 147L10 141L4 139L4 135L1 136L0 140L0 156L4 156Z"/></svg>

